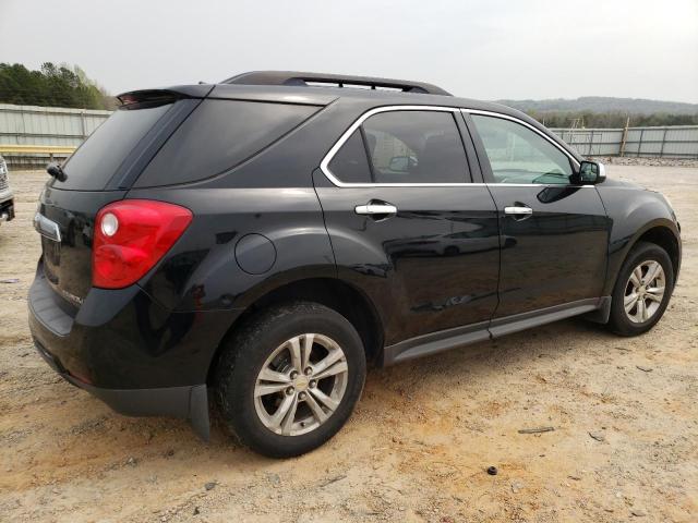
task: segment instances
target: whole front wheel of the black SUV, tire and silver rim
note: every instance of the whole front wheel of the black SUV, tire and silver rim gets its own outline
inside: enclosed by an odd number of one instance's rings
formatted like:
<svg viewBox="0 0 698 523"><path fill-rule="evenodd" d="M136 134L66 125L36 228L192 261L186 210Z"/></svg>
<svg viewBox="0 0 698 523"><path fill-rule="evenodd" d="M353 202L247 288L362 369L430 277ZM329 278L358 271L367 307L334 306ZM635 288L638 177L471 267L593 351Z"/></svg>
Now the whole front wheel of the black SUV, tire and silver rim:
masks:
<svg viewBox="0 0 698 523"><path fill-rule="evenodd" d="M613 288L609 328L638 336L661 319L674 290L672 262L659 245L638 243L623 264Z"/></svg>

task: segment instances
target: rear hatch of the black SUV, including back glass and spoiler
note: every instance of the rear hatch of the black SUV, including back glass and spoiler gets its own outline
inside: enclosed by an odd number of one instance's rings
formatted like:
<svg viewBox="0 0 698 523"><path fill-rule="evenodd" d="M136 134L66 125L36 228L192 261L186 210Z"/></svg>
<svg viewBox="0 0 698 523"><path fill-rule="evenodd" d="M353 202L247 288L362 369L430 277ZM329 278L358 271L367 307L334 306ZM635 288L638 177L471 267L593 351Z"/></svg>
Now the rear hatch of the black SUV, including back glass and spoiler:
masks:
<svg viewBox="0 0 698 523"><path fill-rule="evenodd" d="M210 86L202 87L205 96ZM80 307L92 283L97 211L122 199L169 135L201 102L186 94L149 90L122 95L115 113L64 162L64 180L50 179L35 227L51 287Z"/></svg>

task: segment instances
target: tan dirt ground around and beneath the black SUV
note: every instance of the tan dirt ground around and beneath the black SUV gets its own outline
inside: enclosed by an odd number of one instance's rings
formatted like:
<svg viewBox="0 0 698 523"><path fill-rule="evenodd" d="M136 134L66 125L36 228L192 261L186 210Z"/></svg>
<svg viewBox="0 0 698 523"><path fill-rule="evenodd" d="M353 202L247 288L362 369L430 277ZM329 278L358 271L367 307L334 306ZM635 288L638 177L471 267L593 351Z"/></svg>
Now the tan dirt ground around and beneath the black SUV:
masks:
<svg viewBox="0 0 698 523"><path fill-rule="evenodd" d="M185 422L115 414L39 358L25 300L46 174L13 173L17 219L0 227L0 520L697 521L698 168L609 175L664 192L683 226L681 279L651 332L623 339L573 319L371 370L337 437L273 461L219 425L206 445ZM554 430L518 433L541 426Z"/></svg>

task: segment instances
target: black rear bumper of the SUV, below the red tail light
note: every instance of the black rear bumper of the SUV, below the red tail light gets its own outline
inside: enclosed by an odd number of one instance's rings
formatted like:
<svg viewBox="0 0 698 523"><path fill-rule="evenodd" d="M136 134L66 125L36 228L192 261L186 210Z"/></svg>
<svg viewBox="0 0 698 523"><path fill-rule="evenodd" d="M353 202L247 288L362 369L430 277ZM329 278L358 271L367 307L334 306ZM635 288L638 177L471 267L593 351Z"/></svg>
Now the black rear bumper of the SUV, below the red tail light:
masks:
<svg viewBox="0 0 698 523"><path fill-rule="evenodd" d="M186 418L208 438L208 368L234 312L173 313L137 285L93 289L77 311L40 263L28 297L35 345L65 380L119 413Z"/></svg>

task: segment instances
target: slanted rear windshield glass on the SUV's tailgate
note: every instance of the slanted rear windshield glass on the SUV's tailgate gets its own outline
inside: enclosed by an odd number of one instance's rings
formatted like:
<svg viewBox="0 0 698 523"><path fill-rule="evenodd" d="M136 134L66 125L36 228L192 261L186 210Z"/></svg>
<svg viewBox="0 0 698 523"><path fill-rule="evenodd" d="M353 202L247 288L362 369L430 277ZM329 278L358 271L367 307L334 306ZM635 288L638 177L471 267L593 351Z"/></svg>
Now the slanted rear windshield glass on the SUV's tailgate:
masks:
<svg viewBox="0 0 698 523"><path fill-rule="evenodd" d="M80 191L105 188L129 153L170 107L171 104L165 104L115 111L68 159L63 165L67 180L56 180L53 186Z"/></svg>

